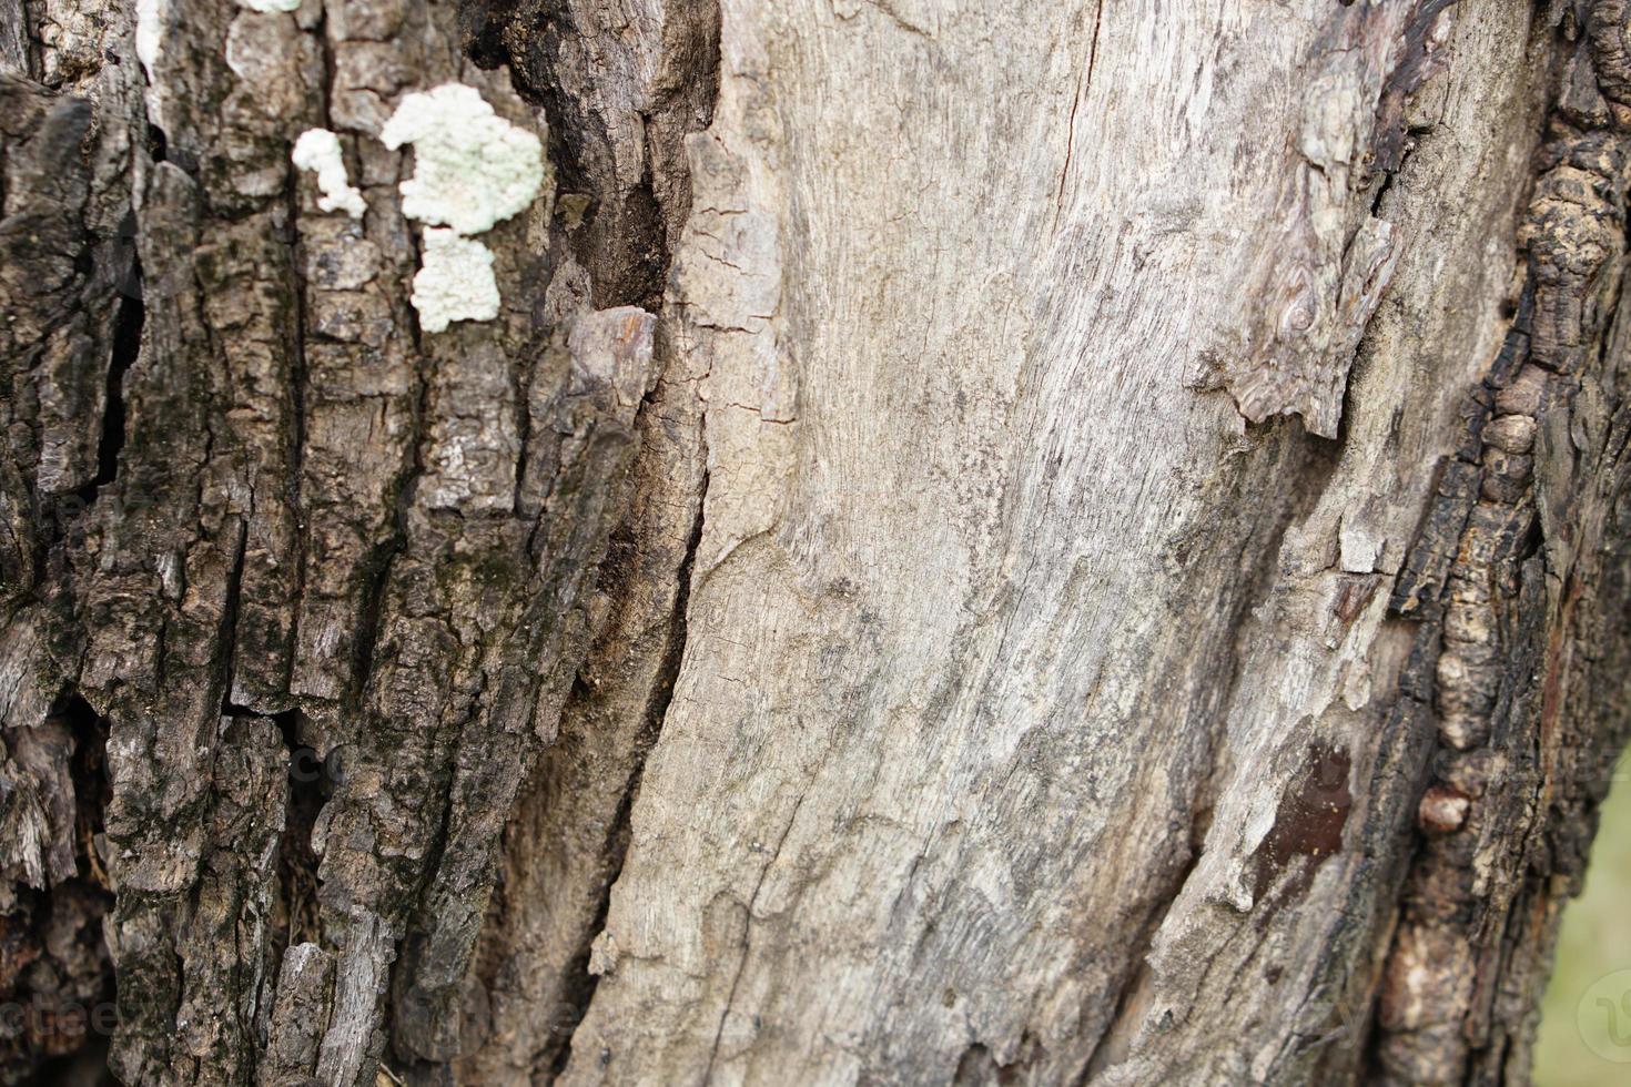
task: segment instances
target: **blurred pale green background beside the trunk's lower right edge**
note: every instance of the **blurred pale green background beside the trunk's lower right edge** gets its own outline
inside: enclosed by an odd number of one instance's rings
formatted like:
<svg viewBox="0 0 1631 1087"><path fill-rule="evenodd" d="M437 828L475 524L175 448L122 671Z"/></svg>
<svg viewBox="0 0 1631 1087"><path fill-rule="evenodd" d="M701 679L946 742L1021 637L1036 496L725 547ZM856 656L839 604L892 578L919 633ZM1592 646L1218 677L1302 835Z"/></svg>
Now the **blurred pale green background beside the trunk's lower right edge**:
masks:
<svg viewBox="0 0 1631 1087"><path fill-rule="evenodd" d="M1603 997L1621 1001L1631 992L1631 975L1597 984L1620 970L1631 971L1631 758L1620 759L1603 803L1585 890L1562 911L1558 965L1541 1002L1536 1087L1631 1084L1631 1046L1610 1040L1608 1009L1597 1004ZM1587 996L1592 999L1582 1009ZM1631 1017L1621 1019L1620 1028L1631 1030ZM1626 1063L1598 1056L1587 1036Z"/></svg>

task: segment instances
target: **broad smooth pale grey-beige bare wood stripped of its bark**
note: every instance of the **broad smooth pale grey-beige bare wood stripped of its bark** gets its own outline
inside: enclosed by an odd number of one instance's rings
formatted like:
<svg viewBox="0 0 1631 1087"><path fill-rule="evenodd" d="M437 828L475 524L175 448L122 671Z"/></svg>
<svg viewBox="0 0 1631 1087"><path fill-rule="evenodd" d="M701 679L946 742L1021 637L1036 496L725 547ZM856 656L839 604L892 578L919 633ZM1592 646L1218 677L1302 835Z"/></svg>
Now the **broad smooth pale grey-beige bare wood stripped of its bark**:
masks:
<svg viewBox="0 0 1631 1087"><path fill-rule="evenodd" d="M1390 583L1579 36L1442 7L724 5L688 640L566 1079L1362 1074L1434 724Z"/></svg>

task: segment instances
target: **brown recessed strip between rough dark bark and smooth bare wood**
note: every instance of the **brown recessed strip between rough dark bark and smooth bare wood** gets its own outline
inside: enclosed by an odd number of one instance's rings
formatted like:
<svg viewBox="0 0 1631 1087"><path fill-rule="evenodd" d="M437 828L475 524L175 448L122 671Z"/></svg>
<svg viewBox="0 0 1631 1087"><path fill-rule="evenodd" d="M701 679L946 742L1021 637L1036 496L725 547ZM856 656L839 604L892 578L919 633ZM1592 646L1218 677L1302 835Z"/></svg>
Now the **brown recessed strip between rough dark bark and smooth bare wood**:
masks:
<svg viewBox="0 0 1631 1087"><path fill-rule="evenodd" d="M623 46L595 29L605 18L592 3L519 5L486 13L478 36L488 62L507 64L555 121L561 200L595 303L654 306L690 207L682 140L711 114L718 10L667 8L656 33ZM651 80L644 101L625 98L625 49L652 65L654 78L634 83ZM630 111L639 119L633 127ZM657 336L664 375L639 406L643 448L628 517L600 574L599 636L564 704L561 737L506 830L506 875L473 983L491 1002L493 1040L462 1064L471 1080L553 1077L571 1059L600 978L597 939L646 755L685 654L706 445L700 378L669 316Z"/></svg>

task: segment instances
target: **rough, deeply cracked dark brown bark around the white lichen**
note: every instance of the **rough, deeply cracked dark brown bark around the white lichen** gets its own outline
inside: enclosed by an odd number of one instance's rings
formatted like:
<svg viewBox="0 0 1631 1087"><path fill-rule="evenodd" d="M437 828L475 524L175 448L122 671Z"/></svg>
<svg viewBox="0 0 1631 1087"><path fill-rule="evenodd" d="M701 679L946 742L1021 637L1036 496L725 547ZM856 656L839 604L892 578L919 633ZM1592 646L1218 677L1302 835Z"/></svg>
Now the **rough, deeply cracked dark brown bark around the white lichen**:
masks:
<svg viewBox="0 0 1631 1087"><path fill-rule="evenodd" d="M377 93L449 78L528 124L458 54L506 57L422 3L170 5L144 80L132 11L104 15L96 42L36 39L88 68L3 88L8 992L90 1004L111 957L127 1082L411 1074L457 1051L493 851L584 654L656 378L652 318L621 303L661 292L659 199L683 212L674 140L708 83L667 77L683 101L633 184L576 163L603 119L559 124L587 227L550 199L501 225L507 310L422 337L390 213L406 158L351 145L359 225L315 210L289 143L377 130ZM700 47L669 33L705 62L695 21ZM95 777L67 768L96 728L113 789L77 826ZM88 965L44 935L75 909ZM18 976L33 958L62 976ZM31 1028L10 1067L62 1048Z"/></svg>

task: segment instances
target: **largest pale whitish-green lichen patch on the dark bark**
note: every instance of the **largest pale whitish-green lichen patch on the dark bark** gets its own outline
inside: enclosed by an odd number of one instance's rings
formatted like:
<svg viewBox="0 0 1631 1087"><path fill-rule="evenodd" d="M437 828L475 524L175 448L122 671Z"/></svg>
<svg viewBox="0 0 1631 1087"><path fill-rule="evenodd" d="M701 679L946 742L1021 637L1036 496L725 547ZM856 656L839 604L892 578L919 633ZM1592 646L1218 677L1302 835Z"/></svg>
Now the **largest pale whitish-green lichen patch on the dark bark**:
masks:
<svg viewBox="0 0 1631 1087"><path fill-rule="evenodd" d="M460 235L478 235L524 210L543 184L538 137L494 114L463 83L403 98L380 140L391 150L413 143L403 215Z"/></svg>

